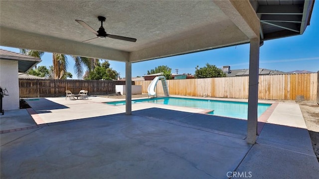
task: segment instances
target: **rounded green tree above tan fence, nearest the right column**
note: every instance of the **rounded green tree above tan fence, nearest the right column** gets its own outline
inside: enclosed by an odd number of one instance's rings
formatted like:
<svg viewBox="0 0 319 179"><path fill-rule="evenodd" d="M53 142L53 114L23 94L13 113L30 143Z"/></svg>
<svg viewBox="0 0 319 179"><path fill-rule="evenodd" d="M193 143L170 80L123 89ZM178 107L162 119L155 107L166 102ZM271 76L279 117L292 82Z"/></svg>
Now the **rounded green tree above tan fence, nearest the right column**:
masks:
<svg viewBox="0 0 319 179"><path fill-rule="evenodd" d="M226 74L219 68L217 68L215 65L210 65L209 63L206 63L206 66L198 68L195 68L195 78L216 78L216 77L226 77Z"/></svg>

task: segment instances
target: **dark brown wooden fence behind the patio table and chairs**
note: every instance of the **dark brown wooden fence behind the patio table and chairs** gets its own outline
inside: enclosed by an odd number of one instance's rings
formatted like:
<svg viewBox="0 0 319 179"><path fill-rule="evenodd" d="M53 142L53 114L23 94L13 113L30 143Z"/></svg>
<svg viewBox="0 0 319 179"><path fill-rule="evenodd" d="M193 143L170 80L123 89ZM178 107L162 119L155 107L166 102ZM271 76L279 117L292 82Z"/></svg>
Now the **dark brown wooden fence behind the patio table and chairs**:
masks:
<svg viewBox="0 0 319 179"><path fill-rule="evenodd" d="M73 94L80 90L88 90L89 95L114 94L117 84L124 85L125 81L19 79L19 95L20 98L65 96L65 90Z"/></svg>

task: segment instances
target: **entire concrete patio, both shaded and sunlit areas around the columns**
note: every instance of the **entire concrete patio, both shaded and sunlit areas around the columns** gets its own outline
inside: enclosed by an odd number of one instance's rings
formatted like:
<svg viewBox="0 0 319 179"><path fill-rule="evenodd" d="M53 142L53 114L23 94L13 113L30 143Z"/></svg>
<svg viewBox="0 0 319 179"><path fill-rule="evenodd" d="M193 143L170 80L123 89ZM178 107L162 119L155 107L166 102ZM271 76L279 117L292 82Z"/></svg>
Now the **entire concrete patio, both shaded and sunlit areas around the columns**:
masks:
<svg viewBox="0 0 319 179"><path fill-rule="evenodd" d="M274 105L251 145L246 120L150 103L125 115L101 103L111 100L39 98L6 112L1 179L318 178L298 104Z"/></svg>

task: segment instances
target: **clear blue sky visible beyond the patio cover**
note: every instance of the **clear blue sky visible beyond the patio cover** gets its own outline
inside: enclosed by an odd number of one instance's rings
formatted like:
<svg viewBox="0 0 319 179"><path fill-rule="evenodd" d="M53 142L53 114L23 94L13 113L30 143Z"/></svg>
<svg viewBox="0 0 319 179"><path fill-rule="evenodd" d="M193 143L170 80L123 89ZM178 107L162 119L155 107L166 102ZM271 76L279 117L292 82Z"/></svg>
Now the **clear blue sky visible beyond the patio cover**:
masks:
<svg viewBox="0 0 319 179"><path fill-rule="evenodd" d="M317 72L319 70L319 1L316 0L313 9L310 26L303 35L268 40L260 47L260 68L279 71L308 70ZM0 46L2 49L19 52L18 48ZM45 53L42 62L38 66L52 65L52 53ZM68 57L68 71L77 79L73 66L74 60ZM125 77L125 63L109 60L111 68ZM195 67L205 66L206 63L221 68L229 65L231 69L244 69L249 67L249 44L231 46L220 49L207 50L203 52L178 55L156 60L149 60L132 64L132 76L143 76L148 70L159 65L167 65L178 74L194 74Z"/></svg>

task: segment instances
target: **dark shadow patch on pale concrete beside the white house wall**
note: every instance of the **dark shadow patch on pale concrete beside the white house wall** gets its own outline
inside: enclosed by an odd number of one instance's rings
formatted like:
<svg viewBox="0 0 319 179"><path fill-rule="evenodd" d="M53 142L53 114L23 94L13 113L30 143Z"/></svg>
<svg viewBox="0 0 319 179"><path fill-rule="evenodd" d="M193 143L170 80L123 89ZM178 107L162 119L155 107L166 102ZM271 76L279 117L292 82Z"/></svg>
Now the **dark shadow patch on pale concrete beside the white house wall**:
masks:
<svg viewBox="0 0 319 179"><path fill-rule="evenodd" d="M37 113L49 113L47 110L54 109L67 109L69 107L55 103L53 101L47 100L45 98L34 98L34 99L25 99L25 102L28 103Z"/></svg>

